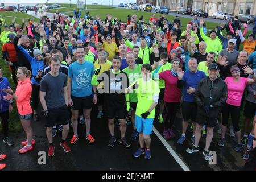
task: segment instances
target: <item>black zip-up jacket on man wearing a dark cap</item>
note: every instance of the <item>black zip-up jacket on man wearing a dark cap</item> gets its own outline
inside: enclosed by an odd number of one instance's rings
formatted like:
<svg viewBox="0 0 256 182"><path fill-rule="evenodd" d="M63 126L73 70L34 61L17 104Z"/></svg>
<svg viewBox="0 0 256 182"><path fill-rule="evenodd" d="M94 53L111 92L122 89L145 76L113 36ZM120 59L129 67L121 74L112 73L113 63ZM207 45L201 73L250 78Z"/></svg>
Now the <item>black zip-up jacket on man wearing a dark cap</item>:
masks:
<svg viewBox="0 0 256 182"><path fill-rule="evenodd" d="M221 78L211 81L209 77L200 80L193 93L197 104L197 113L210 118L217 118L221 107L225 104L228 96L228 86ZM208 113L203 109L204 105L212 105Z"/></svg>

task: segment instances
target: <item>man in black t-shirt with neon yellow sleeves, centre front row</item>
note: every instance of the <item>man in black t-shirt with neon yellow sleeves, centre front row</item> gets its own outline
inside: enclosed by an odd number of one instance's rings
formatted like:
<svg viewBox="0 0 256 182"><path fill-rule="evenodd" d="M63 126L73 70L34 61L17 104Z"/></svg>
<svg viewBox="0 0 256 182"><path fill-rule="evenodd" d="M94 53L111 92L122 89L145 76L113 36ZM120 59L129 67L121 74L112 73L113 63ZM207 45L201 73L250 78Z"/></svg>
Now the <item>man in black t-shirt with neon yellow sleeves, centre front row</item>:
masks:
<svg viewBox="0 0 256 182"><path fill-rule="evenodd" d="M128 76L125 72L120 71L121 58L119 56L114 56L112 59L112 69L110 71L105 71L101 73L100 77L97 77L100 73L100 69L95 71L92 78L92 85L98 85L103 82L104 89L99 89L99 93L104 93L104 101L106 101L106 108L108 114L108 126L110 131L110 140L108 147L114 147L117 141L114 136L114 119L116 114L118 115L121 125L119 126L121 138L119 143L123 144L125 147L130 147L131 144L127 142L125 138L126 133L126 105L127 110L130 110L129 104L129 94L124 94L125 89L129 85ZM127 104L126 104L127 102Z"/></svg>

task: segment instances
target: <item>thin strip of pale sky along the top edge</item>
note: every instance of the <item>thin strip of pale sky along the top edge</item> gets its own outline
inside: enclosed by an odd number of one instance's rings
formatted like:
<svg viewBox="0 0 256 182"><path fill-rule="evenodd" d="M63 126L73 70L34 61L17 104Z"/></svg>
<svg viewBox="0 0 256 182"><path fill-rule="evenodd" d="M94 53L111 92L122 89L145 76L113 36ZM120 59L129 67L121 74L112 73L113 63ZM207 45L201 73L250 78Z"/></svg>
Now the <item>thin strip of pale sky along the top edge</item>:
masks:
<svg viewBox="0 0 256 182"><path fill-rule="evenodd" d="M79 0L79 1L82 1L82 0ZM112 1L113 1L113 5L118 5L119 3L136 3L136 0L87 0L87 3L88 4L92 4L92 3L98 3L98 5L101 5L101 2L103 3L103 5L109 5L109 2L110 4L112 4ZM11 1L12 4L16 5L18 3L20 4L25 4L24 3L24 0L21 1L21 0L13 0ZM25 1L26 4L34 4L35 3L35 0L32 1L32 0L26 0ZM46 3L47 0L37 0L36 3ZM49 3L68 3L69 4L69 0L49 0ZM76 0L71 0L71 3L72 4L76 4ZM84 4L85 4L85 0L84 0ZM10 5L10 3L8 3L8 5Z"/></svg>

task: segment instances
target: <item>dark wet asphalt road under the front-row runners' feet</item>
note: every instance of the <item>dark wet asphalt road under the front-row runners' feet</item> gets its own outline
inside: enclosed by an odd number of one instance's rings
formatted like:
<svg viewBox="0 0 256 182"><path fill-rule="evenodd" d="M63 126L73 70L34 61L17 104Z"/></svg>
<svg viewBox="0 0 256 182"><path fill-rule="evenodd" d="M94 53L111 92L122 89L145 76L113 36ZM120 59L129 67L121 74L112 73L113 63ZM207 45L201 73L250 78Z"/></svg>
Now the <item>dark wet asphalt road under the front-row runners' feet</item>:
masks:
<svg viewBox="0 0 256 182"><path fill-rule="evenodd" d="M92 126L91 133L95 139L93 144L89 144L85 139L85 125L79 124L79 140L74 146L71 146L71 152L66 153L59 146L61 140L61 133L58 132L53 138L55 143L55 156L49 158L46 156L46 164L39 165L38 156L39 151L48 151L48 142L46 138L46 128L44 127L44 119L40 116L39 122L32 122L34 129L34 139L36 141L34 150L27 154L19 154L18 150L21 148L20 142L24 140L24 131L18 134L11 134L10 137L14 139L14 146L7 146L0 142L0 151L2 154L7 154L7 159L1 161L7 164L4 170L104 170L104 171L182 171L184 166L189 170L241 170L245 164L242 159L242 153L234 151L235 142L233 138L227 138L225 147L217 146L217 139L219 135L214 133L213 143L210 150L217 153L217 164L210 165L202 154L205 139L200 141L200 152L187 154L185 150L192 146L191 133L187 132L187 140L182 146L177 144L177 139L181 134L181 119L177 118L175 122L174 131L176 138L165 140L162 137L163 124L156 119L154 122L155 132L152 133L151 139L151 155L150 160L146 160L143 156L134 158L133 152L139 147L138 138L131 142L132 146L126 148L122 144L117 143L113 148L107 146L110 138L108 121L104 117L102 119L96 118L96 109L93 109L91 114ZM217 129L216 129L217 130ZM126 137L129 138L131 134L131 126L127 126ZM119 138L118 126L115 127L115 135ZM68 141L73 136L72 127L69 130ZM165 146L164 146L164 144ZM172 151L172 155L170 153ZM179 163L177 161L180 160ZM181 167L183 164L183 168Z"/></svg>

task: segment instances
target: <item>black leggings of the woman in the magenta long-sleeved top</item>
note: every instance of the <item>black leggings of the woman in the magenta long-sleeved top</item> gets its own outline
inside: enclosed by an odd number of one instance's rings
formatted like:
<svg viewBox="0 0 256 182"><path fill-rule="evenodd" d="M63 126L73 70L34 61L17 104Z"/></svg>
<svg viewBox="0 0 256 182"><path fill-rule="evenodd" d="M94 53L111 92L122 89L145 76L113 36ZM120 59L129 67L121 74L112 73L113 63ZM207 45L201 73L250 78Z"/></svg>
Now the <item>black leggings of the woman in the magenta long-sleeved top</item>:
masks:
<svg viewBox="0 0 256 182"><path fill-rule="evenodd" d="M164 110L163 110L164 131L168 129L172 129L172 125L174 125L174 119L175 119L177 110L179 109L179 106L180 106L180 102L164 101Z"/></svg>

